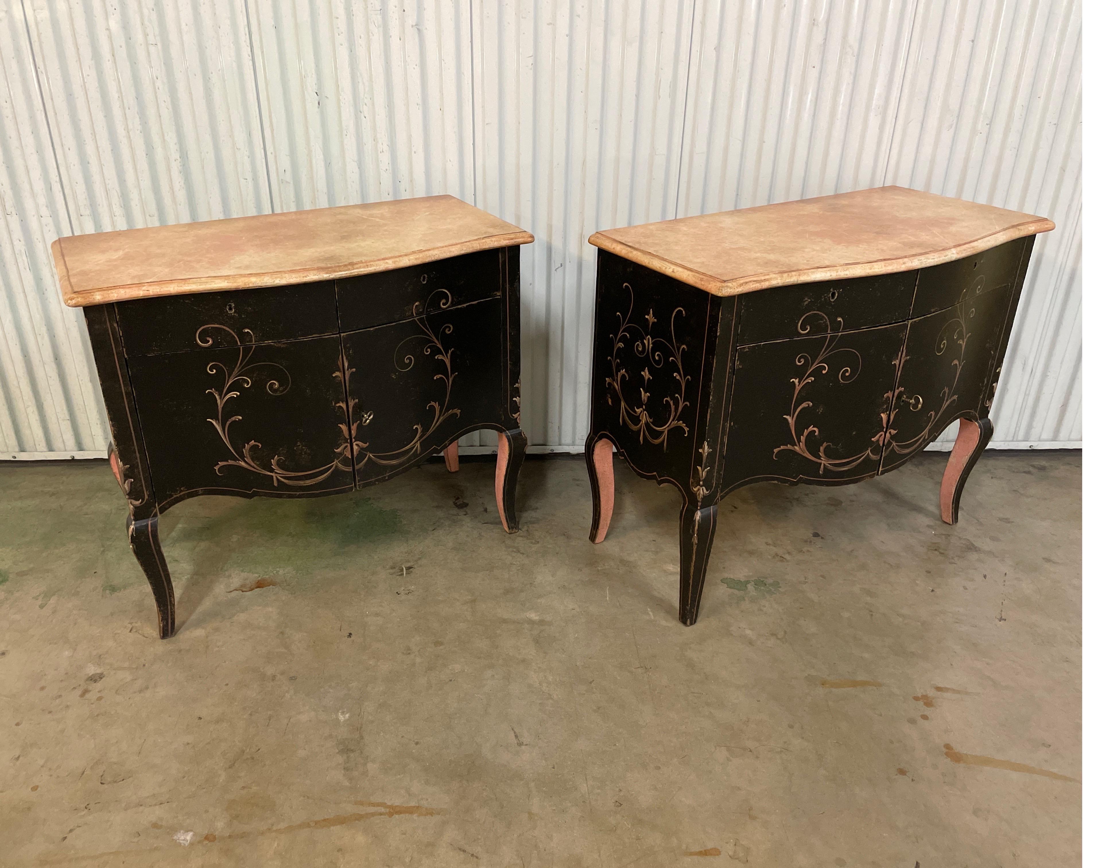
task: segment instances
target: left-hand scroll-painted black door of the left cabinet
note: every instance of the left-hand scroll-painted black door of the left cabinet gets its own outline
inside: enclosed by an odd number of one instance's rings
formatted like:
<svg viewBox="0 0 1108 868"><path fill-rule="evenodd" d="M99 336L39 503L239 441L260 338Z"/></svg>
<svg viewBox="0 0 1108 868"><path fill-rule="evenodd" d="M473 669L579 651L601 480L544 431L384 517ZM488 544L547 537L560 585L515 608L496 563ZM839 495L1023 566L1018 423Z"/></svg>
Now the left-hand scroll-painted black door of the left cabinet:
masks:
<svg viewBox="0 0 1108 868"><path fill-rule="evenodd" d="M127 362L158 503L352 488L338 336L236 341Z"/></svg>

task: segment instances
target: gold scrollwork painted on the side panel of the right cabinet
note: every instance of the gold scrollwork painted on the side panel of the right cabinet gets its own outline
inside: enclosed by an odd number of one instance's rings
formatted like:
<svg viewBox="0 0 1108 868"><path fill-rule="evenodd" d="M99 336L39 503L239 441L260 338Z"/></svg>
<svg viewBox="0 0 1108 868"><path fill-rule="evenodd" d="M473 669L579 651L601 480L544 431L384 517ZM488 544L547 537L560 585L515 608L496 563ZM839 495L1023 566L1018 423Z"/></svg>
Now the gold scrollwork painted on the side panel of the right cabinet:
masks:
<svg viewBox="0 0 1108 868"><path fill-rule="evenodd" d="M685 309L675 308L670 315L669 339L667 340L653 334L654 324L658 321L654 316L653 308L647 310L643 317L643 321L646 323L645 328L632 321L635 309L635 290L632 289L630 284L624 284L624 289L630 294L630 306L627 308L626 315L616 312L619 328L612 335L612 355L608 357L608 361L612 362L612 376L605 379L605 386L612 389L616 400L619 401L620 423L626 425L633 432L637 433L640 443L649 441L666 449L671 431L679 428L686 436L689 431L688 426L680 420L680 416L688 407L688 401L685 400L685 389L691 378L686 376L684 368L683 357L687 347L685 344L677 343L676 330L677 316L685 316ZM624 356L624 351L628 349L632 355ZM635 359L640 359L643 365L643 370L635 375L635 379L639 377L643 379L643 384L638 388L638 397L633 397L630 400L625 396L625 390L628 388L634 394L634 388L630 385L632 375L625 367L625 358L632 362ZM635 367L638 365L635 364ZM655 374L652 374L652 370ZM665 376L667 371L673 377L673 381ZM663 377L659 384L669 382L670 385L668 388L663 387L664 397L660 402L655 401L656 409L652 411L650 380L656 376ZM609 394L609 404L613 402L612 397Z"/></svg>

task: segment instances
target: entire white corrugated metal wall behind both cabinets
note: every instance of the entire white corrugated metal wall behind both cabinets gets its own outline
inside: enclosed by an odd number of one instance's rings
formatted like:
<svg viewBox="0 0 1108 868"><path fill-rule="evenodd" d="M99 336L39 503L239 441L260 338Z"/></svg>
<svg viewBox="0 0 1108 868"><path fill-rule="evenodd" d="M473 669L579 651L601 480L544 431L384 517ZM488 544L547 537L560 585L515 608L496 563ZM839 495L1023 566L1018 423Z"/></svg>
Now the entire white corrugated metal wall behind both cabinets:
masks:
<svg viewBox="0 0 1108 868"><path fill-rule="evenodd" d="M523 422L576 451L594 229L881 184L1058 224L994 445L1077 446L1079 51L1076 0L0 0L0 458L106 448L59 235L452 193L536 236Z"/></svg>

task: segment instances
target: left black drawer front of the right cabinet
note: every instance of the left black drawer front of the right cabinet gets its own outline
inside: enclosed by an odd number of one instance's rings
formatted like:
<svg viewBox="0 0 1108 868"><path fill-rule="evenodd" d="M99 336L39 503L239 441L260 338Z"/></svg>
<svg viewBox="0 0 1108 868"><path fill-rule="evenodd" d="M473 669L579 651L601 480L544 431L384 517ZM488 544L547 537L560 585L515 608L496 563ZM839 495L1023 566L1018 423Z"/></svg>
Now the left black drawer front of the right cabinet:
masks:
<svg viewBox="0 0 1108 868"><path fill-rule="evenodd" d="M815 313L825 315L835 330L845 331L903 321L912 312L919 274L899 272L749 293L740 298L738 346L800 337L808 334L806 323L811 321L804 317Z"/></svg>

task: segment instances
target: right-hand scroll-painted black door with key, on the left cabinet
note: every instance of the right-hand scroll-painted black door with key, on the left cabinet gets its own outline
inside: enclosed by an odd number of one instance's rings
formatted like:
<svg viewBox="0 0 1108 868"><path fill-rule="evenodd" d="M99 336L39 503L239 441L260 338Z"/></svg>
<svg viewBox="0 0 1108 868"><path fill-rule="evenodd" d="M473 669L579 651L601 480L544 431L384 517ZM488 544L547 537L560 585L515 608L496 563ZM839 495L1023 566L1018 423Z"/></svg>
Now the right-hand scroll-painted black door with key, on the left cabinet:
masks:
<svg viewBox="0 0 1108 868"><path fill-rule="evenodd" d="M431 306L433 309L433 306ZM342 335L357 484L386 479L504 416L499 298Z"/></svg>

